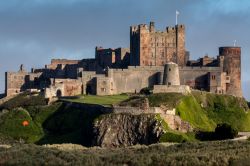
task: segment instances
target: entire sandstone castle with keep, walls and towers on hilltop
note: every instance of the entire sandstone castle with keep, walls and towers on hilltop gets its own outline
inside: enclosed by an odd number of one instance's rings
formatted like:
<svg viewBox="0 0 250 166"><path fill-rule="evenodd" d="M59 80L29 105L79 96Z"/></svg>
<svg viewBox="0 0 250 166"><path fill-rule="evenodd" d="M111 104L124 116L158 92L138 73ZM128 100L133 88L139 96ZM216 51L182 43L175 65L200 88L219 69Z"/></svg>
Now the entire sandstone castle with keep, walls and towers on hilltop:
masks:
<svg viewBox="0 0 250 166"><path fill-rule="evenodd" d="M45 97L188 92L190 89L242 97L241 48L220 47L216 58L190 60L185 26L157 31L153 22L130 27L130 49L96 47L95 58L53 59L42 69L6 72L6 96L41 91Z"/></svg>

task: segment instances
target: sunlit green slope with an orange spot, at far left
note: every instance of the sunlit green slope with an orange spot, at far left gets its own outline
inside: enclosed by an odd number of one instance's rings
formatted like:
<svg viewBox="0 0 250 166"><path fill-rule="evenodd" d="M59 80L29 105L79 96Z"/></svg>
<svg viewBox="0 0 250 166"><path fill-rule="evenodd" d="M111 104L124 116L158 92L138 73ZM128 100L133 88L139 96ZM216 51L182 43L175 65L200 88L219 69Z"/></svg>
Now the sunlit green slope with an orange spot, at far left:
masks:
<svg viewBox="0 0 250 166"><path fill-rule="evenodd" d="M43 107L30 106L28 109L12 109L0 117L0 133L17 140L25 140L28 143L36 142L45 136L42 124L57 111L59 106L59 104L55 104ZM28 121L29 125L23 126L23 121Z"/></svg>

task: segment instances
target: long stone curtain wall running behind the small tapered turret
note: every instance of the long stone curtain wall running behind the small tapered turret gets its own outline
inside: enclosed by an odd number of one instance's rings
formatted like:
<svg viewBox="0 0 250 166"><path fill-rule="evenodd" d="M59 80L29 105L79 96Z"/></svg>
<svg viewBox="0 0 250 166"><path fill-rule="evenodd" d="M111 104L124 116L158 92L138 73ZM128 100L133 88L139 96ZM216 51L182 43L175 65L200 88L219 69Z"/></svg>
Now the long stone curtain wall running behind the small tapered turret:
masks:
<svg viewBox="0 0 250 166"><path fill-rule="evenodd" d="M179 67L180 85L160 86L163 80L163 66L129 66L128 69L108 69L106 76L96 80L97 95L120 93L139 93L145 87L155 87L154 93L188 93L192 89L207 90L214 93L226 93L225 87L230 80L220 67ZM211 79L211 76L215 76ZM174 75L174 78L176 75ZM156 86L155 86L156 85ZM158 86L159 85L159 86Z"/></svg>

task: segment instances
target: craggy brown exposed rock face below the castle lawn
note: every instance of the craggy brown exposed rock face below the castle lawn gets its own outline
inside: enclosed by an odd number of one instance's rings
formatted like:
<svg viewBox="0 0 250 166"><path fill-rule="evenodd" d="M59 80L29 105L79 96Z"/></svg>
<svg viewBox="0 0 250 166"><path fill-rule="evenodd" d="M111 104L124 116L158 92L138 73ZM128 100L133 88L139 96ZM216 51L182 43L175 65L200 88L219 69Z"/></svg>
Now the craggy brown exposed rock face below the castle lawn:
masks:
<svg viewBox="0 0 250 166"><path fill-rule="evenodd" d="M158 142L163 126L156 114L108 114L94 124L94 146L120 147Z"/></svg>

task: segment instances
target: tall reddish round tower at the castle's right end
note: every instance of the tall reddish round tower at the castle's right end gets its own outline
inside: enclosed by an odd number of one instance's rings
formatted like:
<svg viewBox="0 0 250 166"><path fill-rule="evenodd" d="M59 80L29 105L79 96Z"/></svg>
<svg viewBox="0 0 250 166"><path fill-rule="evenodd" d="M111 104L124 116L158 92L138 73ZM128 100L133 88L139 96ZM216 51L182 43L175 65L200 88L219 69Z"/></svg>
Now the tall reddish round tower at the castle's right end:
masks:
<svg viewBox="0 0 250 166"><path fill-rule="evenodd" d="M241 97L241 48L220 47L219 53L224 57L223 71L230 77L230 83L226 86L227 94Z"/></svg>

